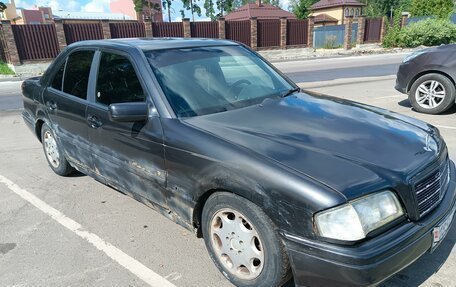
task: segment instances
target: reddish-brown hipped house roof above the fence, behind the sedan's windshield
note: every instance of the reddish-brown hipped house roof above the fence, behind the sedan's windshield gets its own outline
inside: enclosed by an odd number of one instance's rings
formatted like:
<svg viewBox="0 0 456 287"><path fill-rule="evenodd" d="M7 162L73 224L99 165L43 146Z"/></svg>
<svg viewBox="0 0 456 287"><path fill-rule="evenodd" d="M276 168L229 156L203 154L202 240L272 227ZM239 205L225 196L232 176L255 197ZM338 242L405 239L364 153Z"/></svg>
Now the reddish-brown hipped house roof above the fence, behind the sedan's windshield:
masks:
<svg viewBox="0 0 456 287"><path fill-rule="evenodd" d="M225 16L226 20L248 20L252 17L257 19L280 19L286 17L288 19L296 19L296 16L288 11L282 10L279 7L256 3L249 3L239 7L233 12Z"/></svg>

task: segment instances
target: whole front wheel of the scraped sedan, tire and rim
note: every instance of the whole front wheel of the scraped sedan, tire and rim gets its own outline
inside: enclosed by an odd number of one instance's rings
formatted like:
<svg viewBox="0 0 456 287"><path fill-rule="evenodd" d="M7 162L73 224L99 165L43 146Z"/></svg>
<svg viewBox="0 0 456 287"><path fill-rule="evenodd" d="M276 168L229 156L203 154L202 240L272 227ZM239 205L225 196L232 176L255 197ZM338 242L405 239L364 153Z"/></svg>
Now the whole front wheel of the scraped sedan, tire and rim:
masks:
<svg viewBox="0 0 456 287"><path fill-rule="evenodd" d="M202 231L212 261L234 285L282 286L291 278L273 222L252 202L232 193L213 194L203 208Z"/></svg>

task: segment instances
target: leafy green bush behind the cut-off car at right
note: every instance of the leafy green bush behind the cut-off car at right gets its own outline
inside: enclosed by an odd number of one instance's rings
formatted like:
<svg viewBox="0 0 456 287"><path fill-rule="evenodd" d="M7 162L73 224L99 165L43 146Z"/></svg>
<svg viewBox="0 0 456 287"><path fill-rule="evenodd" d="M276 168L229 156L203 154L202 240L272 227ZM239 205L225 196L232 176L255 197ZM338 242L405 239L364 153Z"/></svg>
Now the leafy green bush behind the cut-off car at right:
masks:
<svg viewBox="0 0 456 287"><path fill-rule="evenodd" d="M403 29L389 27L383 41L385 47L414 48L456 42L456 24L447 19L426 19Z"/></svg>

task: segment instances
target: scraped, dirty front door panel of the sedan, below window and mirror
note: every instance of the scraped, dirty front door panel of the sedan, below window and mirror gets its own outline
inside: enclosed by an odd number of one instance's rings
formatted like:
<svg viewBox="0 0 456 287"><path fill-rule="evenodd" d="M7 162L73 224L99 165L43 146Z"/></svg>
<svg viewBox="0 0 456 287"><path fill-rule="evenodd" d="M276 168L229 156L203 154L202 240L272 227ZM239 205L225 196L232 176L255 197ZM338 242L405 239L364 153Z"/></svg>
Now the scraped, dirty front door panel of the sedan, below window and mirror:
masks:
<svg viewBox="0 0 456 287"><path fill-rule="evenodd" d="M146 123L119 123L109 119L106 107L90 105L88 117L96 117L99 127L88 124L95 172L110 185L166 207L163 136L160 120Z"/></svg>

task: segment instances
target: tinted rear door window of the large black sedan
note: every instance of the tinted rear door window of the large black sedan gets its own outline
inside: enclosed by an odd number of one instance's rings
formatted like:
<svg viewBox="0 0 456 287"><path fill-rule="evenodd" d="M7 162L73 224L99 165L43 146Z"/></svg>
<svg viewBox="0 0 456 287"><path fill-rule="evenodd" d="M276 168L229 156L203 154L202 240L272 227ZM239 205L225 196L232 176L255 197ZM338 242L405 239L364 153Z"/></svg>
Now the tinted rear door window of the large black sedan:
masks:
<svg viewBox="0 0 456 287"><path fill-rule="evenodd" d="M90 67L94 51L77 51L67 60L63 91L81 99L87 99Z"/></svg>

